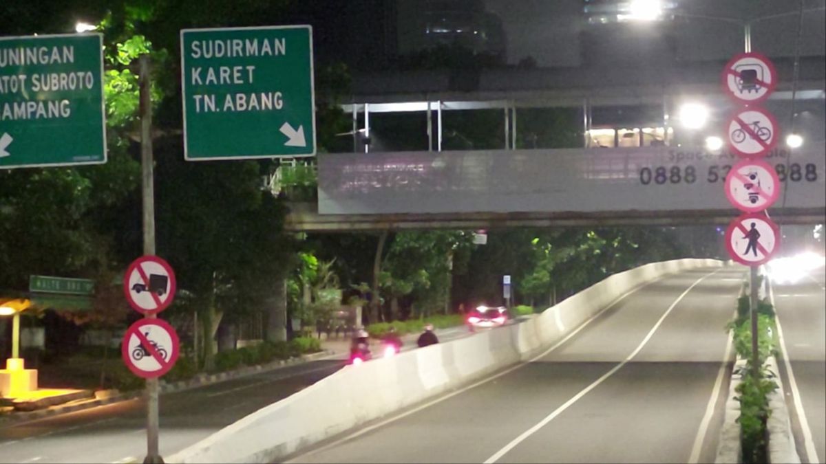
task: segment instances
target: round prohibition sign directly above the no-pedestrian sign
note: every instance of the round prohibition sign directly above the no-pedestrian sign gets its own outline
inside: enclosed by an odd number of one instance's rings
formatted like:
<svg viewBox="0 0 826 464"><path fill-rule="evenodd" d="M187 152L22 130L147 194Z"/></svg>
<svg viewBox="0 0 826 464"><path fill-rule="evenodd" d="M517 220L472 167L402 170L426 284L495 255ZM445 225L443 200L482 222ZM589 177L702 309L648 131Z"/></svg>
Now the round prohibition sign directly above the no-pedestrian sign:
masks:
<svg viewBox="0 0 826 464"><path fill-rule="evenodd" d="M725 178L725 196L738 210L763 211L780 195L780 179L774 168L764 161L743 159Z"/></svg>

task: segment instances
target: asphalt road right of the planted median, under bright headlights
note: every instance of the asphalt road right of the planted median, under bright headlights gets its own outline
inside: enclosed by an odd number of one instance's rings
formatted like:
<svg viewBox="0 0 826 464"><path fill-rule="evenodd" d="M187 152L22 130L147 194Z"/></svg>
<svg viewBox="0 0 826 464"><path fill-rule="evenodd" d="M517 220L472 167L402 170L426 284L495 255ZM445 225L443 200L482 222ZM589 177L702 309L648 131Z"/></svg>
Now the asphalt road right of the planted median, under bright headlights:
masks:
<svg viewBox="0 0 826 464"><path fill-rule="evenodd" d="M772 290L783 342L778 362L797 453L802 462L824 462L826 269L818 268L795 284L776 283Z"/></svg>

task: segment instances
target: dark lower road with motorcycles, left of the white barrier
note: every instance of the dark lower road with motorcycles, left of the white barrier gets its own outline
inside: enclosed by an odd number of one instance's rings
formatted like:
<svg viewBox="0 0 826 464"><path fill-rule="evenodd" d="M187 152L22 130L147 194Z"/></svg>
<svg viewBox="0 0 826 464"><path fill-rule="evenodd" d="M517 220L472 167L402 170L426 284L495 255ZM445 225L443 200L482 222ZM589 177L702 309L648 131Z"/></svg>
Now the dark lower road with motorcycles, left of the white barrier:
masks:
<svg viewBox="0 0 826 464"><path fill-rule="evenodd" d="M459 327L437 331L449 341ZM415 340L415 337L413 338ZM403 349L414 348L407 343ZM161 395L160 452L169 456L344 366L346 354ZM118 462L146 454L143 399L0 428L0 462Z"/></svg>

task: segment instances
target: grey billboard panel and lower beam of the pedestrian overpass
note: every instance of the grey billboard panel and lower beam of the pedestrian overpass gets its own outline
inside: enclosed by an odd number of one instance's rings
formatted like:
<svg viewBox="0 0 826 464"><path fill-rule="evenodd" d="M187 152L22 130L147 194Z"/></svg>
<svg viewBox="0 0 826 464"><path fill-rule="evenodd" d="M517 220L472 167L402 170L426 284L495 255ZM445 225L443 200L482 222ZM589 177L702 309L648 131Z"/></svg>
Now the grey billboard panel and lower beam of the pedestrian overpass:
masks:
<svg viewBox="0 0 826 464"><path fill-rule="evenodd" d="M318 201L290 202L287 230L491 229L728 224L740 159L700 148L528 149L320 154ZM826 142L765 159L781 224L826 221Z"/></svg>

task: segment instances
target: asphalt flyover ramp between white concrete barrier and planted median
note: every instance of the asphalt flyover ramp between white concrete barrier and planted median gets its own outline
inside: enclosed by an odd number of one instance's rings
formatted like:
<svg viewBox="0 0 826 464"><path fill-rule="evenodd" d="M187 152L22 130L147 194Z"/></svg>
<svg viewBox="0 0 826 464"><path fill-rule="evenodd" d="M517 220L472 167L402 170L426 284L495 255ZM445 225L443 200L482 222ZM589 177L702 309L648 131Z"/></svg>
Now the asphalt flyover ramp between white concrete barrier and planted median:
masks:
<svg viewBox="0 0 826 464"><path fill-rule="evenodd" d="M743 276L662 278L532 362L288 462L714 462Z"/></svg>

